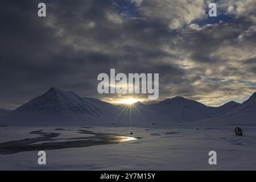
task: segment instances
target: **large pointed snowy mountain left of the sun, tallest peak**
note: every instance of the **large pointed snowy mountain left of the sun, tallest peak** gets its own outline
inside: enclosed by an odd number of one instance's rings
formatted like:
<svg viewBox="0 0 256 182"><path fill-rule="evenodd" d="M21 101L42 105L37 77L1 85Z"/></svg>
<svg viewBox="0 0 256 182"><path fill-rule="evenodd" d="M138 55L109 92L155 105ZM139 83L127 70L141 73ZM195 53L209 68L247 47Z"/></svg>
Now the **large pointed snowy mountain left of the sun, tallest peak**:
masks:
<svg viewBox="0 0 256 182"><path fill-rule="evenodd" d="M95 98L80 97L71 91L50 88L14 111L2 121L9 125L77 125L111 118L115 106ZM86 121L86 122L85 122Z"/></svg>

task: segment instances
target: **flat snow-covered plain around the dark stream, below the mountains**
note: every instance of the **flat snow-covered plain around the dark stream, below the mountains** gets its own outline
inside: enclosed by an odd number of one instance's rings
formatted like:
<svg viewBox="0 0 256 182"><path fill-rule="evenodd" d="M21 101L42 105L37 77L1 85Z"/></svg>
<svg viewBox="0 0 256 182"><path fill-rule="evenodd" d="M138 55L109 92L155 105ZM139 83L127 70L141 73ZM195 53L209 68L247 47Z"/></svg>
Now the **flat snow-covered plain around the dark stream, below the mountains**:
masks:
<svg viewBox="0 0 256 182"><path fill-rule="evenodd" d="M195 126L196 125L196 126ZM60 140L88 137L79 129L138 137L118 144L47 150L46 166L39 166L38 151L0 155L0 169L44 170L176 170L176 169L256 169L256 127L242 127L243 136L234 135L233 126L213 127L202 123L143 127L1 127L1 143L35 138L30 131L60 133ZM52 131L53 130L53 131ZM15 137L14 137L15 136ZM141 137L141 138L140 138ZM55 138L53 138L55 139ZM208 152L217 152L217 165L209 165Z"/></svg>

